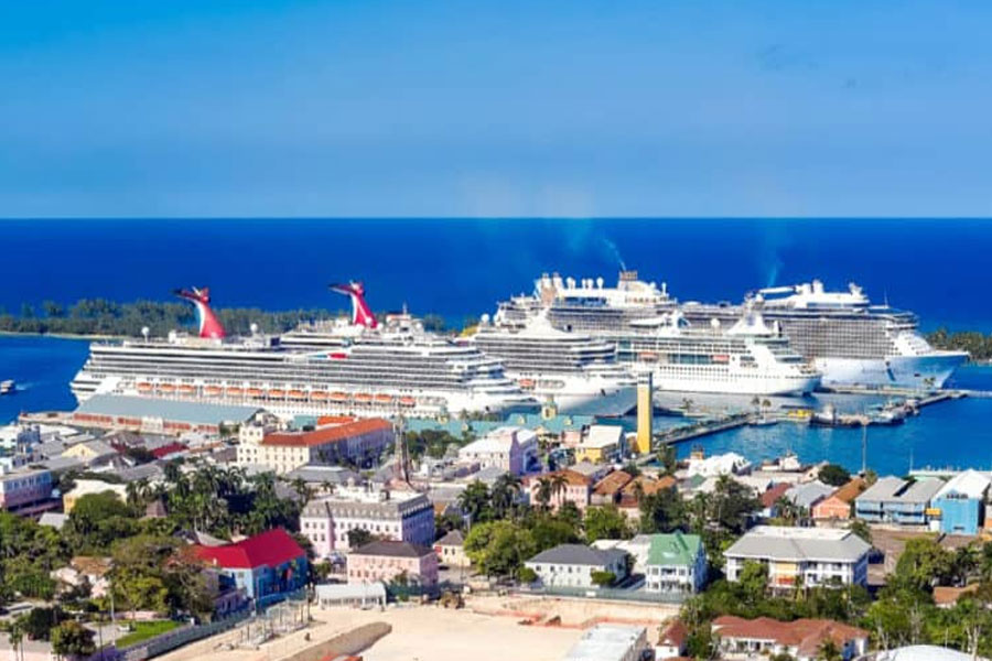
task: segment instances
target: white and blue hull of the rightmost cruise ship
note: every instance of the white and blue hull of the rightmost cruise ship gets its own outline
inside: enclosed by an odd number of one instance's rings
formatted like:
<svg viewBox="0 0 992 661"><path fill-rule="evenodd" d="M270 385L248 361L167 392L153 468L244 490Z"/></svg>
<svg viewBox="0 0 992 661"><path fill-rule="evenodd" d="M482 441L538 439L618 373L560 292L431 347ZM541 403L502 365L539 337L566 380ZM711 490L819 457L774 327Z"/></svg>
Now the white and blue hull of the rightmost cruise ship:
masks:
<svg viewBox="0 0 992 661"><path fill-rule="evenodd" d="M817 358L823 372L823 387L907 388L928 390L942 388L968 355L959 351L935 351L925 356L891 356L878 360L853 358Z"/></svg>

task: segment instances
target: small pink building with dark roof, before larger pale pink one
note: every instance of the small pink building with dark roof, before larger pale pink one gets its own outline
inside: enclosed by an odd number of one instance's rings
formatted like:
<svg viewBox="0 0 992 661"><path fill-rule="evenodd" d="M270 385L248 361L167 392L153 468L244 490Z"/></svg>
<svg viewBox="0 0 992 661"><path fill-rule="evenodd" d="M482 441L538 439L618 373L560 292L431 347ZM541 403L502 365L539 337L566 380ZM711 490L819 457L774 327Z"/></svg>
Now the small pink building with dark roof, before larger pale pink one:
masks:
<svg viewBox="0 0 992 661"><path fill-rule="evenodd" d="M412 585L438 585L438 555L410 542L371 542L348 553L348 583L391 583L401 575Z"/></svg>

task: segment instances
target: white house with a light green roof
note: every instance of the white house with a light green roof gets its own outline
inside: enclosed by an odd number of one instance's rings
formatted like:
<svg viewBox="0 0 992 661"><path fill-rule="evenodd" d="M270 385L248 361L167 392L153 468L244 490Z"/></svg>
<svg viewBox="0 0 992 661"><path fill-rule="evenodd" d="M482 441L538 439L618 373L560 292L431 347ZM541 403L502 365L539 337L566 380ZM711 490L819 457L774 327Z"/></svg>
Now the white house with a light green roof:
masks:
<svg viewBox="0 0 992 661"><path fill-rule="evenodd" d="M653 593L700 592L707 583L707 552L698 534L650 535L645 589Z"/></svg>

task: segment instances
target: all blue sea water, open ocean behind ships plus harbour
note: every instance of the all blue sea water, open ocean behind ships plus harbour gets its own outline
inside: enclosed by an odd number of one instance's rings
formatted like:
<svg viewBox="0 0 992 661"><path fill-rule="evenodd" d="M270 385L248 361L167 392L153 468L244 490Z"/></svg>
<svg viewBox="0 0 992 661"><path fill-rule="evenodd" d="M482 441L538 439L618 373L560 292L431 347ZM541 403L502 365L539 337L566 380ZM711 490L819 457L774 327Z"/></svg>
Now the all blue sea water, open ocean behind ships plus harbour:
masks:
<svg viewBox="0 0 992 661"><path fill-rule="evenodd" d="M406 303L460 323L529 292L543 271L612 281L626 267L682 301L853 280L916 312L925 329L992 330L992 221L983 220L0 220L0 306L11 312L44 300L164 300L188 285L209 286L218 306L343 308L326 284L354 279L374 310ZM68 381L86 353L83 340L0 337L0 379L20 384L0 398L0 423L73 408ZM992 390L992 368L967 367L952 384ZM990 420L992 399L964 399L871 427L869 465L992 468ZM702 445L753 460L791 449L861 466L860 430L743 427Z"/></svg>

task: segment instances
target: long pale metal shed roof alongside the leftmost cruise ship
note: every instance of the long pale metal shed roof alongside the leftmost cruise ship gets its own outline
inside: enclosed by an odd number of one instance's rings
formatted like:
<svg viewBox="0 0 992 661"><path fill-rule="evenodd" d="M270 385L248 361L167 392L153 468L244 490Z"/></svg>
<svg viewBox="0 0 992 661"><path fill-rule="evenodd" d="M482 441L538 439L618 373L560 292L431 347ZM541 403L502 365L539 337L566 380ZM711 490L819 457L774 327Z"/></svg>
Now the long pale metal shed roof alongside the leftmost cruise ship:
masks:
<svg viewBox="0 0 992 661"><path fill-rule="evenodd" d="M78 413L120 415L125 418L159 418L193 424L245 422L259 411L258 407L182 402L117 394L94 394L76 409Z"/></svg>

